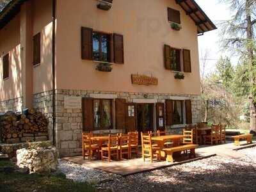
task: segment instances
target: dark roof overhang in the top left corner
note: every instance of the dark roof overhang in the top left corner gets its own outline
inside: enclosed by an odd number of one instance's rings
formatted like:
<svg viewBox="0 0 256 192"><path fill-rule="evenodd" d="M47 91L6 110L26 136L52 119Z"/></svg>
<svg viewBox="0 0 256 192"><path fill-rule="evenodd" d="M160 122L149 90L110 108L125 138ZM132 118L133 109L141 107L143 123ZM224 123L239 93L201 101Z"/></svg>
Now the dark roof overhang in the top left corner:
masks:
<svg viewBox="0 0 256 192"><path fill-rule="evenodd" d="M20 6L27 0L12 0L0 12L0 29L2 29L10 20L20 12Z"/></svg>

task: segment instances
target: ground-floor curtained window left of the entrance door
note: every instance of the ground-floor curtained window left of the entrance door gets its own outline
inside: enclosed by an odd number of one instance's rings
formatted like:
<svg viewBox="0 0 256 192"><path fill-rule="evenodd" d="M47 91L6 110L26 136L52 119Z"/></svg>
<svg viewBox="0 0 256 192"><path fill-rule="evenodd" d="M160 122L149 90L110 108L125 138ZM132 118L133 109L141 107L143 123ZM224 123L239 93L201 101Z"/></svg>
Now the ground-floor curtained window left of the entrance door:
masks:
<svg viewBox="0 0 256 192"><path fill-rule="evenodd" d="M93 100L93 128L95 130L111 129L112 104L108 99Z"/></svg>

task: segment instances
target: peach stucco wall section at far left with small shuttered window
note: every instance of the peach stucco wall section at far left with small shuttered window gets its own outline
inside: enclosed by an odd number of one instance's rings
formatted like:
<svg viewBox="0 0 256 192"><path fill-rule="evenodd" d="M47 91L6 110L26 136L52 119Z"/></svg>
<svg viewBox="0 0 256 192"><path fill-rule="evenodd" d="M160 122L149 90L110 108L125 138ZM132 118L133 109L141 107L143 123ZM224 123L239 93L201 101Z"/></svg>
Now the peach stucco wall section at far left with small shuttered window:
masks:
<svg viewBox="0 0 256 192"><path fill-rule="evenodd" d="M9 78L3 80L3 56L9 52ZM0 100L22 96L20 61L20 15L0 30Z"/></svg>

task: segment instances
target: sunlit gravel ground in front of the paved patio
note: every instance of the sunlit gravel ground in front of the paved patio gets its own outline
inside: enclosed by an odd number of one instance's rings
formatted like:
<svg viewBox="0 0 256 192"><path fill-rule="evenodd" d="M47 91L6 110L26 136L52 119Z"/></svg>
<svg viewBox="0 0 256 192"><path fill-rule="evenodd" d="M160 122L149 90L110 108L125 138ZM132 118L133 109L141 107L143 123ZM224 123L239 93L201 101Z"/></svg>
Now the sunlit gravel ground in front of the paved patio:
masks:
<svg viewBox="0 0 256 192"><path fill-rule="evenodd" d="M256 148L239 150L245 156L220 156L170 168L122 177L60 161L67 178L96 184L111 191L255 191Z"/></svg>

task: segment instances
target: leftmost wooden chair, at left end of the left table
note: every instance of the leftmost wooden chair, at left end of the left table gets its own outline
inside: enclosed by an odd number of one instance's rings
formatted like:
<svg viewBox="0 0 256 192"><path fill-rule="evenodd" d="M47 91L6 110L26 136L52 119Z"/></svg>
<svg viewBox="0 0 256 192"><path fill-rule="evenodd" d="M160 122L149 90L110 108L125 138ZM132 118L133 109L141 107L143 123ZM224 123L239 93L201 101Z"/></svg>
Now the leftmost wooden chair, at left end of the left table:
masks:
<svg viewBox="0 0 256 192"><path fill-rule="evenodd" d="M94 152L99 152L100 147L97 144L93 144L90 133L82 133L82 145L83 145L83 159L87 156L88 159L92 159Z"/></svg>

